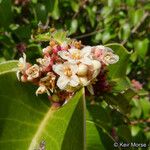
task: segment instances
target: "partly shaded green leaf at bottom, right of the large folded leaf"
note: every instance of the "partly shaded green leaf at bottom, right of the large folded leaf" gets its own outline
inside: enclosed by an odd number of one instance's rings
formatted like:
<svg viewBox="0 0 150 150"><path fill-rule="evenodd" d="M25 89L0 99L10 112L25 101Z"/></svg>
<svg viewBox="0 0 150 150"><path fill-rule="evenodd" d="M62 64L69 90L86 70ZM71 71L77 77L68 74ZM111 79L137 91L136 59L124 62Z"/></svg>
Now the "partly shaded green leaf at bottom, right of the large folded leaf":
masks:
<svg viewBox="0 0 150 150"><path fill-rule="evenodd" d="M106 130L111 118L104 108L100 105L88 106L86 117L87 150L113 149L114 140Z"/></svg>

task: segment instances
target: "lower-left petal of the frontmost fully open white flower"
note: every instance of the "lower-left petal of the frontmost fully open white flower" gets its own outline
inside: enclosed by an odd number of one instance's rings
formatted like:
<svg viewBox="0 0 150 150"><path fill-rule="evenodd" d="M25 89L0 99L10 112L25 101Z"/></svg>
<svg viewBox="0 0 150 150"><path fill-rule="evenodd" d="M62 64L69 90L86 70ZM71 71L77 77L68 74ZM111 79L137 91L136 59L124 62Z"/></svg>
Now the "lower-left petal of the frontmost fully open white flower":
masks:
<svg viewBox="0 0 150 150"><path fill-rule="evenodd" d="M68 83L69 83L69 78L67 78L66 76L60 76L57 80L57 86L61 90L65 89Z"/></svg>

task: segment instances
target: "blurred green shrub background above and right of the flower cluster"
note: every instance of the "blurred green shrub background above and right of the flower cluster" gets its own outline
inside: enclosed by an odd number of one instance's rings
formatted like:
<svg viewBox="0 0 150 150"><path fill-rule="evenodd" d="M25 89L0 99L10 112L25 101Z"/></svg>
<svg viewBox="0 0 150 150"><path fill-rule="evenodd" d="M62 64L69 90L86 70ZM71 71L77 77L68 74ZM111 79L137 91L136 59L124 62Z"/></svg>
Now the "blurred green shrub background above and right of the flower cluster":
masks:
<svg viewBox="0 0 150 150"><path fill-rule="evenodd" d="M34 36L68 31L85 45L120 43L132 51L127 75L138 95L130 114L135 139L150 139L149 0L0 0L0 62L41 53ZM115 121L117 124L117 121ZM112 135L114 130L112 131Z"/></svg>

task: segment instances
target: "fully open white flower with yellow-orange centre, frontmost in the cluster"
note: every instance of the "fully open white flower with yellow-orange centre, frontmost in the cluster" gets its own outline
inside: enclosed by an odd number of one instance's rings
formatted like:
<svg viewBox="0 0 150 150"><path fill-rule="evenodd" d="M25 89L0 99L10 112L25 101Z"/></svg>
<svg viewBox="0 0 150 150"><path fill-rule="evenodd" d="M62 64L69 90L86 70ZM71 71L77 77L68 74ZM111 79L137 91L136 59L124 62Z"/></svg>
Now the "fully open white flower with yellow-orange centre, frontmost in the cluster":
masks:
<svg viewBox="0 0 150 150"><path fill-rule="evenodd" d="M60 77L57 80L57 86L60 89L65 89L67 86L76 87L80 83L78 76L78 66L76 64L70 64L64 62L63 64L53 65L53 70Z"/></svg>

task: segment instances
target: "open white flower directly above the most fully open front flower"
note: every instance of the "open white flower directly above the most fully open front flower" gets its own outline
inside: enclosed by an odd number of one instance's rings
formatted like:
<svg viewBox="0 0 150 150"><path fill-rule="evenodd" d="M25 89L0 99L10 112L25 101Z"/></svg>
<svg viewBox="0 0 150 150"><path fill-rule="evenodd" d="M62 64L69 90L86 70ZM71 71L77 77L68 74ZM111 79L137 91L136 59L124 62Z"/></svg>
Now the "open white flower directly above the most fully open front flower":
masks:
<svg viewBox="0 0 150 150"><path fill-rule="evenodd" d="M83 49L71 48L68 51L59 51L58 55L61 58L68 60L70 63L83 63L90 65L91 64L91 47L86 46Z"/></svg>

